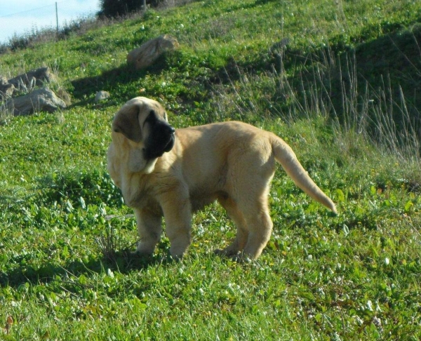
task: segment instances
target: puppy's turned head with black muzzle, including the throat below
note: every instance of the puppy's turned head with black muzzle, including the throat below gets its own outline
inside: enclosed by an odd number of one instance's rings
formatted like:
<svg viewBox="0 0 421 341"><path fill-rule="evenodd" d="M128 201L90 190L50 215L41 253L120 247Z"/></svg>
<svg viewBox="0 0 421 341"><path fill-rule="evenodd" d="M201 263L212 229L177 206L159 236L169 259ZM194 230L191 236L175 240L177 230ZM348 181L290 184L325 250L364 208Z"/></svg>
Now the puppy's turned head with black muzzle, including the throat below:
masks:
<svg viewBox="0 0 421 341"><path fill-rule="evenodd" d="M165 110L145 97L133 98L121 107L114 116L112 131L130 140L130 168L137 172L151 173L156 159L169 152L175 142L175 129L168 124Z"/></svg>

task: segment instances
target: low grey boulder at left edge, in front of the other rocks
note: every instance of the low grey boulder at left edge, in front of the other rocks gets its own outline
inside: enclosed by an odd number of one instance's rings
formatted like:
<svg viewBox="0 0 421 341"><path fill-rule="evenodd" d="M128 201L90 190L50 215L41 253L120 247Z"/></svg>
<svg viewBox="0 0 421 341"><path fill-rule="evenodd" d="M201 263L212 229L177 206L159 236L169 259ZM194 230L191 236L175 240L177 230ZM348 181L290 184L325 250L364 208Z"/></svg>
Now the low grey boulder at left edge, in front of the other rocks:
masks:
<svg viewBox="0 0 421 341"><path fill-rule="evenodd" d="M0 112L8 112L14 116L29 115L34 112L55 112L64 109L66 104L49 88L39 88L27 95L10 98L0 106Z"/></svg>

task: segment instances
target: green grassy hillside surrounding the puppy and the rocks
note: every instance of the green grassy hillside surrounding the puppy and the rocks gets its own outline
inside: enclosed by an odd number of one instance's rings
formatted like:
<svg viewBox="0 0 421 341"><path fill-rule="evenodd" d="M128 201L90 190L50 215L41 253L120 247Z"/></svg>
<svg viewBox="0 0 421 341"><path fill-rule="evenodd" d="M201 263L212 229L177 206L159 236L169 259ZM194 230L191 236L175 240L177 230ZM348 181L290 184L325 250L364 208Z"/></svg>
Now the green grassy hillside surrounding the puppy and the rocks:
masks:
<svg viewBox="0 0 421 341"><path fill-rule="evenodd" d="M126 66L161 34L180 49ZM420 340L420 44L420 1L205 0L0 55L0 74L48 66L72 95L56 114L1 113L0 339ZM138 95L176 128L273 131L339 214L279 167L257 261L213 255L235 234L217 205L181 262L165 237L136 258L105 153Z"/></svg>

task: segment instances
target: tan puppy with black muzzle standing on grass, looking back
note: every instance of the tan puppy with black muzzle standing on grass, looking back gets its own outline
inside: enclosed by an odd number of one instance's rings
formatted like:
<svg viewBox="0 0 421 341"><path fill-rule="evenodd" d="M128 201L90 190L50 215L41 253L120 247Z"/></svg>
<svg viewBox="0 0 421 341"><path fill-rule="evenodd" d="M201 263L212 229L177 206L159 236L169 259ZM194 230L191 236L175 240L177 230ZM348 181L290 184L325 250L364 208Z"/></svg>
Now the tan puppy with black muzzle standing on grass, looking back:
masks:
<svg viewBox="0 0 421 341"><path fill-rule="evenodd" d="M141 254L154 252L163 216L171 256L182 257L191 243L192 212L218 200L237 234L217 252L258 258L272 232L267 195L275 160L305 193L336 212L273 133L241 122L175 131L163 107L148 98L133 98L116 113L107 158L109 174L135 210Z"/></svg>

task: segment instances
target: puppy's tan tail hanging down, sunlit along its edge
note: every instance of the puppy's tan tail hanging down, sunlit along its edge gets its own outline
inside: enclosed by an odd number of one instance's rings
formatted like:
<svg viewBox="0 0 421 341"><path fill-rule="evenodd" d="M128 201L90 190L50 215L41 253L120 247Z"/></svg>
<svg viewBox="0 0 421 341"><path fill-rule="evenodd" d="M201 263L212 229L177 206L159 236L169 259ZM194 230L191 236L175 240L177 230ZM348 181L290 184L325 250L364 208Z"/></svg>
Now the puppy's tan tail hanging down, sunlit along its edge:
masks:
<svg viewBox="0 0 421 341"><path fill-rule="evenodd" d="M281 166L295 182L295 185L300 187L306 194L312 197L314 200L319 201L334 213L338 213L336 210L335 203L323 193L323 191L317 186L312 178L309 177L306 170L302 168L300 161L293 152L290 146L286 144L281 138L275 136L272 139L272 150L275 155L276 161L281 163Z"/></svg>

